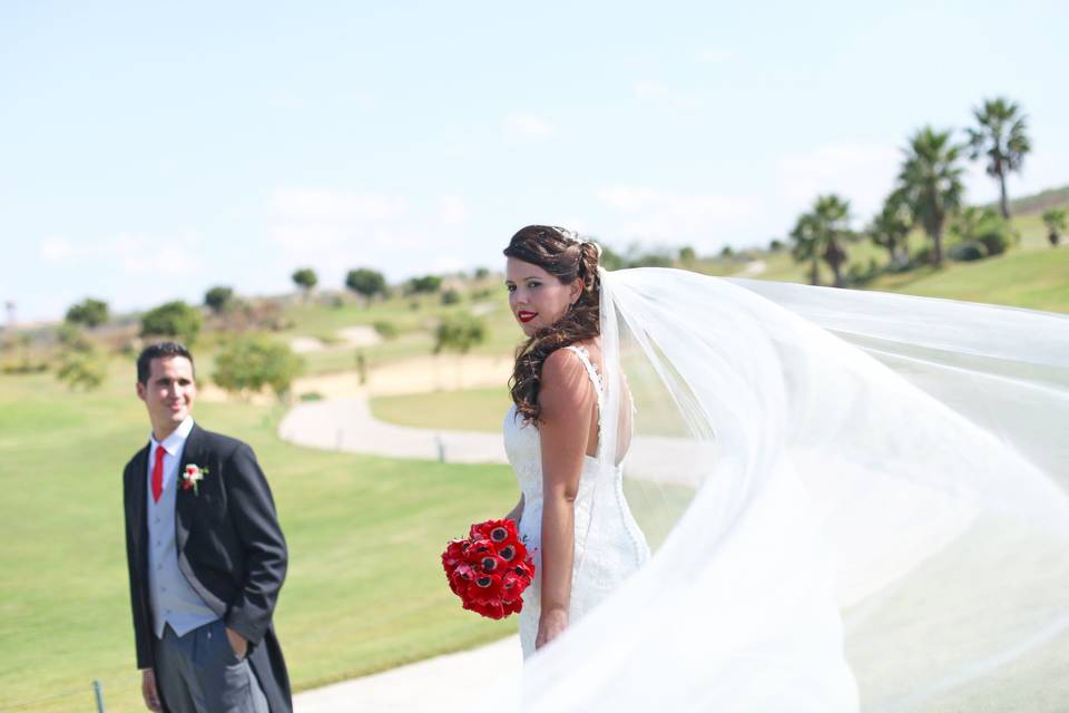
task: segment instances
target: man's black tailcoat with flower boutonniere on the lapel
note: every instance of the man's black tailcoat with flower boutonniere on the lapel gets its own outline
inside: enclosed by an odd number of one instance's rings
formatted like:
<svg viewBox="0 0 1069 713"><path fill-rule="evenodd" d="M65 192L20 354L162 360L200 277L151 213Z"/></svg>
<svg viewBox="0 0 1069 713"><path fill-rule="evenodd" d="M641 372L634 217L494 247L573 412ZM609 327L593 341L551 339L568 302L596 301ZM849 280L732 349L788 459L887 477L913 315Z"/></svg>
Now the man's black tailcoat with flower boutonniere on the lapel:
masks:
<svg viewBox="0 0 1069 713"><path fill-rule="evenodd" d="M178 568L205 604L248 639L248 661L273 713L293 709L290 678L272 626L286 576L286 541L271 488L253 449L194 424L178 476L187 465L207 470L197 491L178 488L175 539ZM148 593L148 446L122 475L126 553L138 668L153 661ZM164 702L166 704L166 701Z"/></svg>

